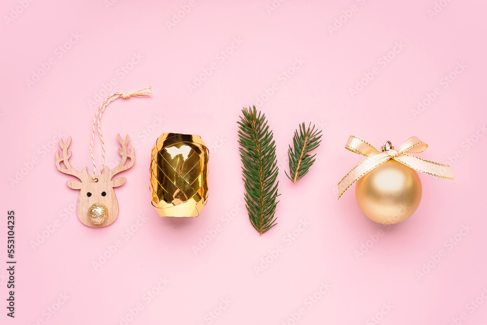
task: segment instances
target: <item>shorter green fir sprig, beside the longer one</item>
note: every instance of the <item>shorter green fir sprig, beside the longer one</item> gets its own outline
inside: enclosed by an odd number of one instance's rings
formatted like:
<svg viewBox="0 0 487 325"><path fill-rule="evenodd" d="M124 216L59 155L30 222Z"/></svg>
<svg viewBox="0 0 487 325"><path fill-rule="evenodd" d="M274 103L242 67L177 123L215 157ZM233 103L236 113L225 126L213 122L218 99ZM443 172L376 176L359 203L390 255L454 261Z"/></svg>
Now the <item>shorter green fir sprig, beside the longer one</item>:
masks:
<svg viewBox="0 0 487 325"><path fill-rule="evenodd" d="M306 173L309 172L309 168L316 160L314 159L316 153L311 155L309 152L318 148L319 143L321 142L319 139L321 137L321 130L315 130L314 125L313 129L310 129L310 127L311 123L307 129L304 126L304 122L300 124L300 132L298 133L298 130L296 130L293 137L294 150L289 145L289 150L287 151L289 157L289 175L287 172L284 172L293 183L296 183L306 175Z"/></svg>

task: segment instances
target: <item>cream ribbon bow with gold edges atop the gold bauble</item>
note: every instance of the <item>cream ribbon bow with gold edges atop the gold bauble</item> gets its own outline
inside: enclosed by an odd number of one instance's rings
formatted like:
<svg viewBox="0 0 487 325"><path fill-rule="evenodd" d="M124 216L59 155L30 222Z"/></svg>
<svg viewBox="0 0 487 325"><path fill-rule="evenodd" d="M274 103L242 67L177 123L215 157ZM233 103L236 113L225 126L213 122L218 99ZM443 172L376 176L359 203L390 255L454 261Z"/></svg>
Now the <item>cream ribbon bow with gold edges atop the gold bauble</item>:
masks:
<svg viewBox="0 0 487 325"><path fill-rule="evenodd" d="M421 141L416 136L412 136L404 141L397 150L378 151L373 145L364 140L357 138L355 135L350 135L345 149L354 153L359 153L367 158L356 165L348 174L345 175L338 182L338 199L348 190L360 177L372 171L380 164L385 163L389 159L394 159L416 171L424 172L425 174L453 179L453 172L449 165L435 163L433 161L425 160L413 156L409 153L422 153L428 148L428 145Z"/></svg>

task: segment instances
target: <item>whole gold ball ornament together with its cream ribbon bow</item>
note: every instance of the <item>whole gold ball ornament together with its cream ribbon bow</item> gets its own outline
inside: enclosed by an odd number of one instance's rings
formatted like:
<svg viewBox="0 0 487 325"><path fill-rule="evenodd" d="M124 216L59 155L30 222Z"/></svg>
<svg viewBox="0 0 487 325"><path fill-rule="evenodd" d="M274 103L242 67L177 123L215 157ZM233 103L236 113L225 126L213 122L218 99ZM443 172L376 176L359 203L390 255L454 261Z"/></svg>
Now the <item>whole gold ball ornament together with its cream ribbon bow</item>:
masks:
<svg viewBox="0 0 487 325"><path fill-rule="evenodd" d="M338 183L338 199L355 182L358 207L375 222L396 224L409 218L419 206L423 194L416 171L453 179L450 166L424 160L411 153L422 153L428 145L412 136L397 150L386 141L379 152L370 143L351 135L347 150L367 158Z"/></svg>

